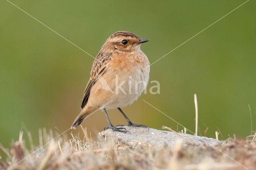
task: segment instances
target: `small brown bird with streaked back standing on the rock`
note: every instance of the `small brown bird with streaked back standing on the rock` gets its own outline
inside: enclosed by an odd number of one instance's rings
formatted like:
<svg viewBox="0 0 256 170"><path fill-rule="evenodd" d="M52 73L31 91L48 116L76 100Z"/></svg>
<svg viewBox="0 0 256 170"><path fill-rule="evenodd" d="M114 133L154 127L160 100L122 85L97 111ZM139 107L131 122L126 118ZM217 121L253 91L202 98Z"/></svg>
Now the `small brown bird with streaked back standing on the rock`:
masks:
<svg viewBox="0 0 256 170"><path fill-rule="evenodd" d="M88 115L98 109L103 110L108 120L109 126L104 129L127 132L125 128L112 125L106 112L109 109L118 109L128 121L128 126L147 127L132 123L121 108L132 104L146 89L150 64L140 46L148 41L127 31L116 32L106 40L92 64L82 110L71 128L77 128Z"/></svg>

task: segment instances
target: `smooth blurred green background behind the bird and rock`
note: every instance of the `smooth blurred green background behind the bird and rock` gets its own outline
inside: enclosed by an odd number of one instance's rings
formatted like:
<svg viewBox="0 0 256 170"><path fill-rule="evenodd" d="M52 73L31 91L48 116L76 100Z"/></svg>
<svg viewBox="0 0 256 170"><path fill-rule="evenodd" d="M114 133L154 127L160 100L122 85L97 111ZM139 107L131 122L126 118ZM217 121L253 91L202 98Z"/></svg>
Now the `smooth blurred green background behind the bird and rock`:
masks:
<svg viewBox="0 0 256 170"><path fill-rule="evenodd" d="M245 1L11 2L93 56L112 33L134 32L150 40L142 50L153 63ZM255 8L249 1L153 64L150 81L160 82L160 94L143 94L124 108L128 117L152 128L182 129L144 99L194 131L196 93L199 134L209 127L210 137L218 129L223 139L250 135L248 104L256 128ZM21 129L36 143L38 128L70 128L94 59L6 0L0 1L0 56L0 142L9 147ZM118 110L108 113L114 125L126 123ZM82 125L94 135L107 121L98 111Z"/></svg>

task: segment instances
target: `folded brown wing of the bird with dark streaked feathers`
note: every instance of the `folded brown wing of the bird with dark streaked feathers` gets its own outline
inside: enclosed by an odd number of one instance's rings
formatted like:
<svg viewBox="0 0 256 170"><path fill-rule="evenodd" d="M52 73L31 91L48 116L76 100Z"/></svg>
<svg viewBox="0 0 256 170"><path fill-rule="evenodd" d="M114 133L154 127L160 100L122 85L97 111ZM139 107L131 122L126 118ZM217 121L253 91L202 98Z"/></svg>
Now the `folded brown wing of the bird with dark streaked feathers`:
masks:
<svg viewBox="0 0 256 170"><path fill-rule="evenodd" d="M106 70L107 68L106 63L110 61L111 58L112 58L112 53L100 51L96 59L93 61L92 71L90 73L91 77L84 90L84 97L82 100L81 108L84 108L84 106L86 105L93 85L96 83L98 78L104 74L104 70Z"/></svg>

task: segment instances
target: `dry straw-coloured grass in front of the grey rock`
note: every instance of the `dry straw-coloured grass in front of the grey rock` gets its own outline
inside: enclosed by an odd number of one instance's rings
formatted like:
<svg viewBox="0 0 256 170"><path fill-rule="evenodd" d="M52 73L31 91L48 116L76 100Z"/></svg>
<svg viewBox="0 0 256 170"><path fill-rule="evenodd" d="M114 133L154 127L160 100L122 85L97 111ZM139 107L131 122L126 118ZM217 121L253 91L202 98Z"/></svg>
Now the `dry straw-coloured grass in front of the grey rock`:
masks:
<svg viewBox="0 0 256 170"><path fill-rule="evenodd" d="M26 148L22 135L21 132L19 140L12 143L10 151L0 145L8 158L5 162L0 159L0 170L10 168L16 170L245 169L234 160L250 170L256 169L256 142L252 140L229 139L217 146L234 159L231 160L206 145L182 146L178 140L174 150L167 145L156 147L142 142L128 146L114 137L99 136L97 140L94 140L88 137L86 130L84 130L82 139L71 134L70 140L62 137L52 142L50 142L53 138L52 132L46 133L46 130L42 130L41 146L49 143L34 152L34 148L37 147L32 144L32 138L28 141L30 147ZM28 136L31 135L28 134Z"/></svg>

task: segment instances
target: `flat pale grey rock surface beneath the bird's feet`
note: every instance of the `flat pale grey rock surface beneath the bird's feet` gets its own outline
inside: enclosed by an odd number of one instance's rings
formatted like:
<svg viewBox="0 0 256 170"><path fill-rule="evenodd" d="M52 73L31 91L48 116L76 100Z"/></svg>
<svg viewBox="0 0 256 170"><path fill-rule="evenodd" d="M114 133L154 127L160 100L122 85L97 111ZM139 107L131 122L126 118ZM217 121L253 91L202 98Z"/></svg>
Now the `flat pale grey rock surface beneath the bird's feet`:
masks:
<svg viewBox="0 0 256 170"><path fill-rule="evenodd" d="M128 127L124 126L129 132L113 132L108 129L100 132L102 136L115 136L118 140L124 144L133 144L136 142L149 142L156 146L163 146L168 144L171 147L174 147L176 140L180 140L182 145L186 144L195 144L201 145L206 144L210 146L216 146L222 144L222 141L216 140L214 138L207 138L204 136L196 136L191 134L183 134L170 132L165 130L157 130L154 128L141 128L141 127Z"/></svg>

